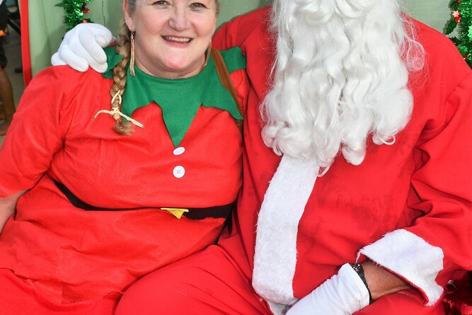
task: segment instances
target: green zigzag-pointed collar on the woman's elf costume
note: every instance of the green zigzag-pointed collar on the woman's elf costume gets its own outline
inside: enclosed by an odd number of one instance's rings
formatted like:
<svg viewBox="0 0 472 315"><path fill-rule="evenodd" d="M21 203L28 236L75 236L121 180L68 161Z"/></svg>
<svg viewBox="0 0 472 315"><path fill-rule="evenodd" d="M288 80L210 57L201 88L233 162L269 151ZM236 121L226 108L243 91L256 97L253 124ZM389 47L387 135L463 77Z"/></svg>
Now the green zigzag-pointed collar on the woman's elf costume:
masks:
<svg viewBox="0 0 472 315"><path fill-rule="evenodd" d="M103 76L113 78L113 67L122 59L114 47L105 49L108 69ZM229 73L246 68L246 60L238 47L221 51ZM200 105L228 111L236 120L243 119L234 99L221 84L213 58L199 74L185 79L162 79L146 74L134 66L136 76L129 74L122 96L121 112L129 117L134 110L154 101L161 107L164 123L174 147L182 141ZM146 126L144 126L146 127Z"/></svg>

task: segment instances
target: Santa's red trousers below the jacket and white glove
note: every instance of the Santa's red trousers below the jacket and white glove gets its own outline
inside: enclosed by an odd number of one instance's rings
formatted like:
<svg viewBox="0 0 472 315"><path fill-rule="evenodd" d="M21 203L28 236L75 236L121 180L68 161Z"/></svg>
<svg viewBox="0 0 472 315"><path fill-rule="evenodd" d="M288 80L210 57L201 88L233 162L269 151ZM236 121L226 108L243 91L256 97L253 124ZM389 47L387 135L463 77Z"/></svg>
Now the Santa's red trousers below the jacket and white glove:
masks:
<svg viewBox="0 0 472 315"><path fill-rule="evenodd" d="M134 283L115 315L272 314L226 252L209 246ZM404 293L389 294L355 315L444 314L442 303L425 307ZM327 314L328 315L328 314Z"/></svg>

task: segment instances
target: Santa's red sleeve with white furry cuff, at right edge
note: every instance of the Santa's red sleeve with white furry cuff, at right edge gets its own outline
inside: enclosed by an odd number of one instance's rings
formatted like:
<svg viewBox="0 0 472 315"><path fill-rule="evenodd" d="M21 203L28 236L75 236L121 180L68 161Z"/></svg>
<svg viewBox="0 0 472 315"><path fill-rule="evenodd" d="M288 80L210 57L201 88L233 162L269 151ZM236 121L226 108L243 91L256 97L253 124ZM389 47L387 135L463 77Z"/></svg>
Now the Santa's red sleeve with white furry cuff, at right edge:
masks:
<svg viewBox="0 0 472 315"><path fill-rule="evenodd" d="M405 212L418 218L359 251L420 290L427 305L441 297L451 270L472 269L472 71L447 38L434 38L422 37L427 88L415 95L415 106L438 112L417 143L422 161Z"/></svg>

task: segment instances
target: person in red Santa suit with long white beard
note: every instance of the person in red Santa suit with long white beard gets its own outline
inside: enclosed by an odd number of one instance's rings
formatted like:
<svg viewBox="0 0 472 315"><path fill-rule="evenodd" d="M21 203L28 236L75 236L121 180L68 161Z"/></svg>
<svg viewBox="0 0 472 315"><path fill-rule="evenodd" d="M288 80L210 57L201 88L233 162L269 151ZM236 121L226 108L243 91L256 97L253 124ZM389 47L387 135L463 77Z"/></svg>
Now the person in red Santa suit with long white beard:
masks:
<svg viewBox="0 0 472 315"><path fill-rule="evenodd" d="M472 269L472 71L451 41L398 0L276 0L214 45L251 81L233 229L116 315L443 315Z"/></svg>

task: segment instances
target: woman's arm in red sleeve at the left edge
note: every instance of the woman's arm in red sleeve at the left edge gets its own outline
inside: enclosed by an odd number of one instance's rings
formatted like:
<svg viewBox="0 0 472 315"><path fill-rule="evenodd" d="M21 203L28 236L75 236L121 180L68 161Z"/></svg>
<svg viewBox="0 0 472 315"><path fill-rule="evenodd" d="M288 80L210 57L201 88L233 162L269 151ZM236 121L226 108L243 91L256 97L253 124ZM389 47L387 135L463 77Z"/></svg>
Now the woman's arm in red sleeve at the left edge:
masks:
<svg viewBox="0 0 472 315"><path fill-rule="evenodd" d="M67 110L74 110L70 100L78 94L64 93L64 86L82 84L77 75L66 67L50 67L35 76L21 97L0 147L0 230L15 212L18 197L40 181L64 147L73 117Z"/></svg>

